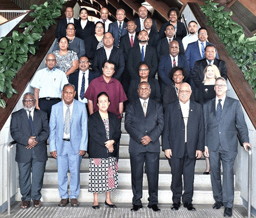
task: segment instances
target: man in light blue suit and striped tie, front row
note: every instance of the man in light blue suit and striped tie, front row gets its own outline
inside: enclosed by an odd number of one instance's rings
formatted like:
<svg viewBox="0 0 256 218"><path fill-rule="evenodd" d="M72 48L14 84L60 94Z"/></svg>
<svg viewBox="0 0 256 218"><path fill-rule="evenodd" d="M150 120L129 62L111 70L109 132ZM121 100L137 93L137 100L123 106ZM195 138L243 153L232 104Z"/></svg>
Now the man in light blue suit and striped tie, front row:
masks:
<svg viewBox="0 0 256 218"><path fill-rule="evenodd" d="M63 101L52 106L50 118L50 151L58 165L59 207L69 203L78 207L80 191L80 164L86 154L88 142L86 105L75 100L75 86L63 86ZM68 193L68 169L71 173L70 196Z"/></svg>

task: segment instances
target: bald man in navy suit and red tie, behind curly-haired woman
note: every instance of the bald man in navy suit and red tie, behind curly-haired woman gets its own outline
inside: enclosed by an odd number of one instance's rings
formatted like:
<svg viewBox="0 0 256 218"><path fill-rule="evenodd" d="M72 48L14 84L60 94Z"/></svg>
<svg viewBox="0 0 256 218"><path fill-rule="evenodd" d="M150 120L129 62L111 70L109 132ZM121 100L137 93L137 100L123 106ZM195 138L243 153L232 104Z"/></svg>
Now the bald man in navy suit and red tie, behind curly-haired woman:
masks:
<svg viewBox="0 0 256 218"><path fill-rule="evenodd" d="M161 86L161 94L163 96L165 87L173 84L172 79L169 78L169 72L173 67L182 67L186 70L186 78L189 76L189 67L186 57L179 54L179 43L178 41L172 41L169 45L169 54L161 56L158 65L158 80Z"/></svg>

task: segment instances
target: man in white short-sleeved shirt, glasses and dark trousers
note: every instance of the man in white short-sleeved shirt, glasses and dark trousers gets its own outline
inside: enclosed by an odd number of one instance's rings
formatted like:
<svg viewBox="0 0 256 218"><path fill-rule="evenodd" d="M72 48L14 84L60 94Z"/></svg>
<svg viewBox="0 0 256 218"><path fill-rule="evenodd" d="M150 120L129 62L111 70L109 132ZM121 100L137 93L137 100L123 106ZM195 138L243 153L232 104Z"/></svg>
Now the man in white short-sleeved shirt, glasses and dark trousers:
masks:
<svg viewBox="0 0 256 218"><path fill-rule="evenodd" d="M50 121L52 105L61 101L61 90L69 81L63 71L55 68L54 54L48 54L45 63L47 68L36 72L30 86L34 88L36 109L46 112Z"/></svg>

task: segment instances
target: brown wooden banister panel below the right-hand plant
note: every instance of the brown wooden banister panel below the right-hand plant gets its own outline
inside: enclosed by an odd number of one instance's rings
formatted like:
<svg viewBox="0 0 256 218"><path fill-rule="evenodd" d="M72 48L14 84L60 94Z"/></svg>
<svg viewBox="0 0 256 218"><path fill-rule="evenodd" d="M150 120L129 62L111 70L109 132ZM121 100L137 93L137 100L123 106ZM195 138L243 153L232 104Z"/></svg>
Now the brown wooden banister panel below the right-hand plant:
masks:
<svg viewBox="0 0 256 218"><path fill-rule="evenodd" d="M204 13L200 10L200 7L196 3L188 3L190 9L195 14L198 23L201 27L205 27L207 23L207 18ZM229 57L227 51L225 50L224 44L220 41L218 34L215 32L214 28L207 26L208 30L208 40L217 46L219 57L224 60L227 64L227 77L236 92L241 104L243 105L245 112L247 113L249 119L252 122L254 128L256 128L256 100L255 93L251 89L248 81L245 80L243 72L239 69L236 62Z"/></svg>

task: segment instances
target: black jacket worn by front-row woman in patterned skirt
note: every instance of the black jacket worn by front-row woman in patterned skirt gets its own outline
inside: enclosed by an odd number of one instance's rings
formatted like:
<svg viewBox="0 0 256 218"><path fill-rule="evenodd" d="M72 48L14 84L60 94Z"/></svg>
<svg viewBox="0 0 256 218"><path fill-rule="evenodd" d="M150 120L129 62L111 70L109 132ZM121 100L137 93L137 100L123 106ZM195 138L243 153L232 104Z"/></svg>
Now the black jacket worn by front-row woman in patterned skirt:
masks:
<svg viewBox="0 0 256 218"><path fill-rule="evenodd" d="M88 129L90 133L88 153L90 158L108 158L117 156L117 144L121 137L121 122L116 115L108 112L109 114L109 139L106 138L105 125L100 117L99 111L93 113L89 117ZM114 151L107 152L105 142L114 140Z"/></svg>

